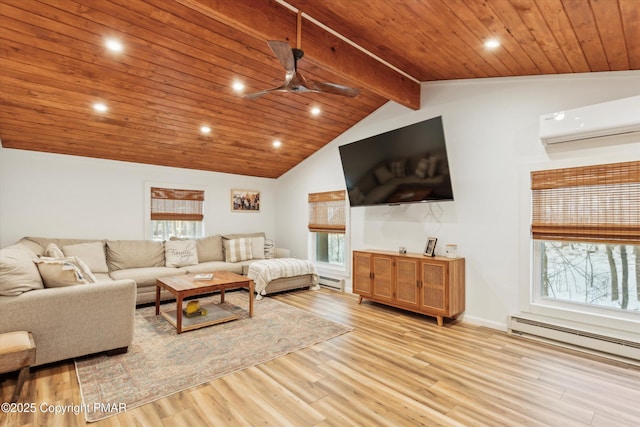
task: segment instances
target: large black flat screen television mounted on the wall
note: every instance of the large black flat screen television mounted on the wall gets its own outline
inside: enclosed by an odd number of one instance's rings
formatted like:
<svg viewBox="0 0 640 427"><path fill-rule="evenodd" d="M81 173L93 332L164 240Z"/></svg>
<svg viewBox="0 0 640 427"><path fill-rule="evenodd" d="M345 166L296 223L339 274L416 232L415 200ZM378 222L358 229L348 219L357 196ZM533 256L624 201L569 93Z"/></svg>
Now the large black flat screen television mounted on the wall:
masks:
<svg viewBox="0 0 640 427"><path fill-rule="evenodd" d="M453 200L442 116L338 148L352 207Z"/></svg>

